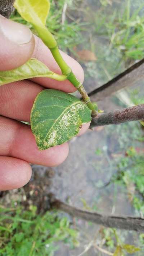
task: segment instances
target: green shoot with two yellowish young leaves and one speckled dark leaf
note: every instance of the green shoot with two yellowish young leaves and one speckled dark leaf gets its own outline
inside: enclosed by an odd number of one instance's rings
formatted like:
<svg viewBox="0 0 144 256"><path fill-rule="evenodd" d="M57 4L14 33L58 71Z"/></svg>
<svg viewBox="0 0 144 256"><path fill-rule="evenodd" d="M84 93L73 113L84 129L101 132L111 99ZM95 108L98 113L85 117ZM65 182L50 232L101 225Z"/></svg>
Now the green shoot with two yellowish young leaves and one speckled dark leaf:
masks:
<svg viewBox="0 0 144 256"><path fill-rule="evenodd" d="M96 116L96 110L83 85L63 60L53 35L46 28L50 10L49 0L15 0L14 7L30 22L44 44L50 49L62 71L58 75L37 59L30 59L21 67L0 72L0 85L32 77L69 80L82 95L83 101L59 90L44 90L35 99L31 110L31 129L39 149L60 145L76 136L83 123Z"/></svg>

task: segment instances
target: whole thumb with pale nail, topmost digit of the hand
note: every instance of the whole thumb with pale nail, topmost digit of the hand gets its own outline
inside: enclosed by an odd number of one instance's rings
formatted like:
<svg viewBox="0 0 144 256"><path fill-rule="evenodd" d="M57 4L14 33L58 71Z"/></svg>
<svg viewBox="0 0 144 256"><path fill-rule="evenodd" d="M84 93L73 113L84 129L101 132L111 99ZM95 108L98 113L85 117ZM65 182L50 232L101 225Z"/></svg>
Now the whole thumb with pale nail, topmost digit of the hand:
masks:
<svg viewBox="0 0 144 256"><path fill-rule="evenodd" d="M35 47L32 32L26 26L0 15L0 70L9 70L31 58Z"/></svg>

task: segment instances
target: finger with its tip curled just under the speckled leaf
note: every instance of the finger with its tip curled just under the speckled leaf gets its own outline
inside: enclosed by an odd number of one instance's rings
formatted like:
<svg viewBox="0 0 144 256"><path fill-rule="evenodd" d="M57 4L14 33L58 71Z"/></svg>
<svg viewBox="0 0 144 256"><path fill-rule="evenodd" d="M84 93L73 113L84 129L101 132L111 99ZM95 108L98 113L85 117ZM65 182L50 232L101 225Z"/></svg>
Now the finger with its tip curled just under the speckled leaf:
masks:
<svg viewBox="0 0 144 256"><path fill-rule="evenodd" d="M67 158L68 151L67 143L40 151L29 125L0 117L1 156L11 156L38 165L57 166Z"/></svg>

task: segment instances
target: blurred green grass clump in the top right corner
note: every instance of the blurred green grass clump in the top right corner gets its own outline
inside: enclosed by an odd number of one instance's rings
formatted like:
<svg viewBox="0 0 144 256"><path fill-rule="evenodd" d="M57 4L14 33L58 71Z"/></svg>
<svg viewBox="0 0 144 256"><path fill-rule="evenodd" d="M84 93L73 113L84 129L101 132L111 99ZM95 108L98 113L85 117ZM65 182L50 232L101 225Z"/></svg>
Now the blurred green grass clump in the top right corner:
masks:
<svg viewBox="0 0 144 256"><path fill-rule="evenodd" d="M110 50L117 49L125 62L129 58L137 60L144 57L144 17L139 15L143 8L144 4L141 4L132 10L131 0L128 0L124 10L115 9L107 16L107 8L104 8L100 18L95 15L95 35L105 36Z"/></svg>

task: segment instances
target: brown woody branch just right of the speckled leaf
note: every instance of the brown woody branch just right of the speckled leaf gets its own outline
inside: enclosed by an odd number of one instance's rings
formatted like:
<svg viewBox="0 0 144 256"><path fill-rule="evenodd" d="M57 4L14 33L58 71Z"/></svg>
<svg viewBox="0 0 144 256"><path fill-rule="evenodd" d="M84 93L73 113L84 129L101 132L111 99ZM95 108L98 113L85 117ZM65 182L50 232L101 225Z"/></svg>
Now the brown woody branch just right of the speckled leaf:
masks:
<svg viewBox="0 0 144 256"><path fill-rule="evenodd" d="M144 104L129 108L117 109L113 112L105 114L98 114L98 116L92 118L90 128L112 124L118 125L124 122L142 120L144 120Z"/></svg>

